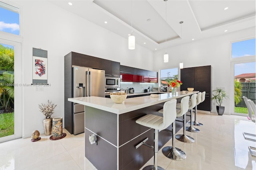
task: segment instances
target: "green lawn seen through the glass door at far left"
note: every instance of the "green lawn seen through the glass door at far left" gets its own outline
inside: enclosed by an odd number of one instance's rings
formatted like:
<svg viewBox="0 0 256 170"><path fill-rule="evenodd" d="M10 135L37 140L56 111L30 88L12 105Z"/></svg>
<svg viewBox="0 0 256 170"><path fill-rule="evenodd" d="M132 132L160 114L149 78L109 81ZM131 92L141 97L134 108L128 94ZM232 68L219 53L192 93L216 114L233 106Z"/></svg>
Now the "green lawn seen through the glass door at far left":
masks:
<svg viewBox="0 0 256 170"><path fill-rule="evenodd" d="M0 114L0 137L14 134L14 112Z"/></svg>

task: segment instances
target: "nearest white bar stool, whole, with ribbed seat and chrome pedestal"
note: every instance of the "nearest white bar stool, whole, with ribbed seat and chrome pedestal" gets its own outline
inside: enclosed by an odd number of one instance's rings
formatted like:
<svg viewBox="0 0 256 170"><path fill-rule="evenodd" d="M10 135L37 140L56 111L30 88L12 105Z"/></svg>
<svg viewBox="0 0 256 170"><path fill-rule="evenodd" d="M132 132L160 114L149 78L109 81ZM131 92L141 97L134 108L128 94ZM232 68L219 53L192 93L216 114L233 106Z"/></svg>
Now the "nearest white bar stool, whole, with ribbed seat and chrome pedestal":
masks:
<svg viewBox="0 0 256 170"><path fill-rule="evenodd" d="M154 165L149 165L143 170L164 170L158 166L158 132L166 129L176 119L176 99L164 103L163 117L157 115L145 115L136 120L136 123L154 129ZM175 123L174 123L175 124Z"/></svg>

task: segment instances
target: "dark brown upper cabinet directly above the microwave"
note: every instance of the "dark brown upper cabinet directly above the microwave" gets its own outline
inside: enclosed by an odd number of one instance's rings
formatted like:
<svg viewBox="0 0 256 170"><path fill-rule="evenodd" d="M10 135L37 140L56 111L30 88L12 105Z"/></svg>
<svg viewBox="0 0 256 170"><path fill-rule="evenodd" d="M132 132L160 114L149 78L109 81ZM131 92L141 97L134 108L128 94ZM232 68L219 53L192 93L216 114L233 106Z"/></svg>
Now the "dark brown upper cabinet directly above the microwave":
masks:
<svg viewBox="0 0 256 170"><path fill-rule="evenodd" d="M103 69L106 76L120 76L120 63L116 61L103 60Z"/></svg>

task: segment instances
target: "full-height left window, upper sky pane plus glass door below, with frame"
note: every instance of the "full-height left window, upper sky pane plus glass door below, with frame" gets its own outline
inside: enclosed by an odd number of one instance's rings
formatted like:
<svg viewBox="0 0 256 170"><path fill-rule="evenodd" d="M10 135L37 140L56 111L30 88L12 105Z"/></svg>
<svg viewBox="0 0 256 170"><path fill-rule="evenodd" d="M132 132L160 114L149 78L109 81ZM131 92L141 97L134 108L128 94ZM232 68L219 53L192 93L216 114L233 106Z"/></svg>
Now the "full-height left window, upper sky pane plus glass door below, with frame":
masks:
<svg viewBox="0 0 256 170"><path fill-rule="evenodd" d="M0 2L0 143L22 137L23 110L22 17L15 2L5 2Z"/></svg>

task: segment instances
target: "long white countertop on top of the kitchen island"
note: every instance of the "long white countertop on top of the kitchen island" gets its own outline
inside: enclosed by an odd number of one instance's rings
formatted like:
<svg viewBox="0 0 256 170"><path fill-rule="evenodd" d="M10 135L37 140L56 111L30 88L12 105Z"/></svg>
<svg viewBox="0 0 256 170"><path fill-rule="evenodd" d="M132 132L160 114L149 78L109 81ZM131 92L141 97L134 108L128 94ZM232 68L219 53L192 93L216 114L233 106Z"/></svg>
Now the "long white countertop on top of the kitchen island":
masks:
<svg viewBox="0 0 256 170"><path fill-rule="evenodd" d="M123 103L116 104L110 98L102 98L96 96L80 97L80 98L68 98L68 101L82 104L84 106L94 107L104 111L109 111L116 114L127 113L162 102L167 102L172 99L182 98L184 96L196 94L198 91L193 92L176 92L175 96L172 93L159 94L159 97L152 98L150 96L140 96L135 98L126 98Z"/></svg>

